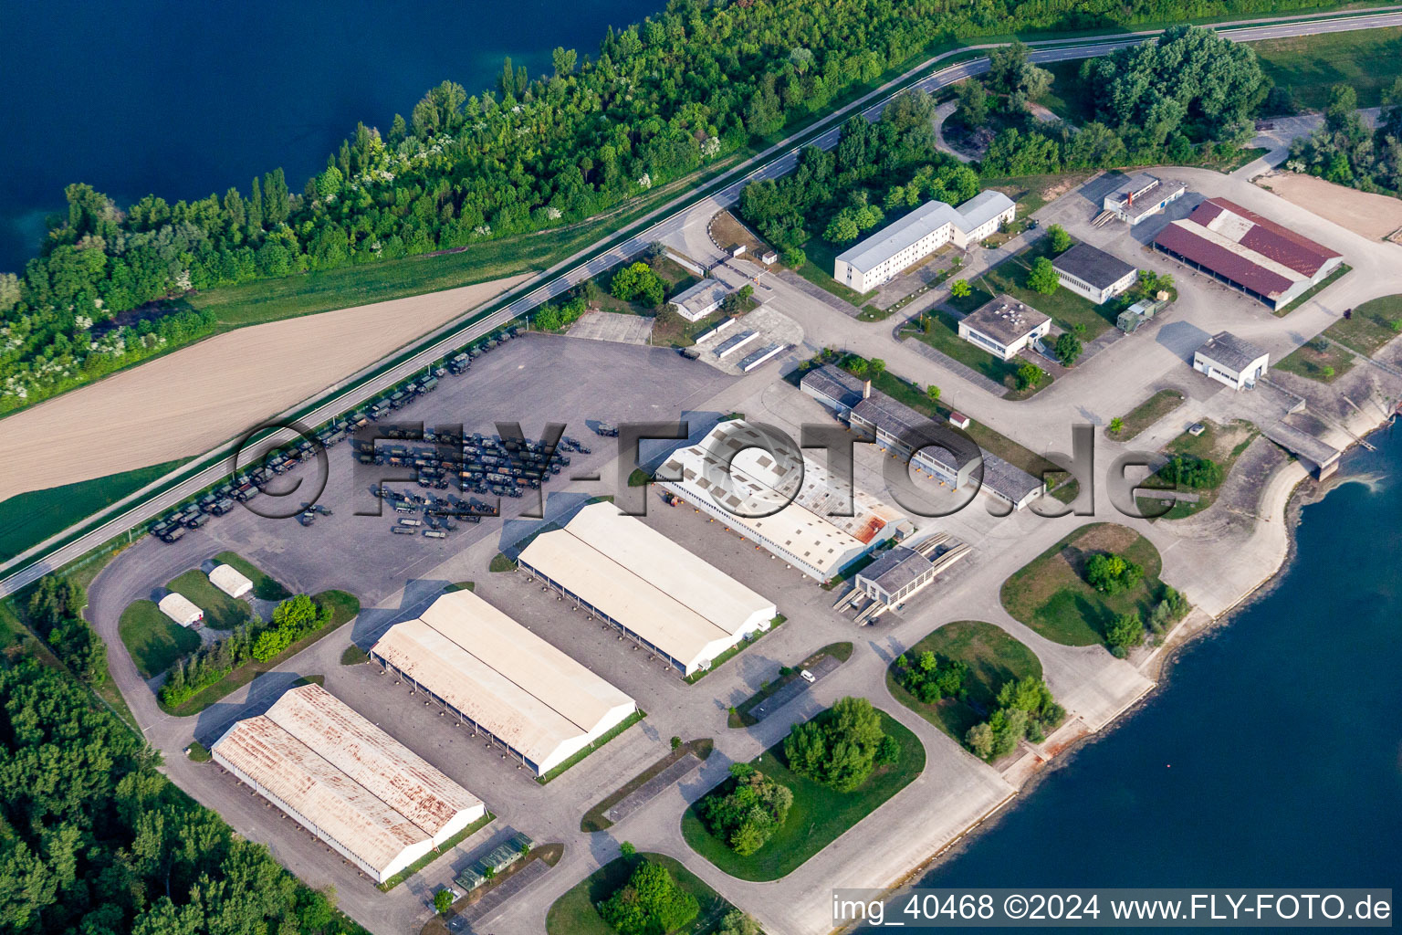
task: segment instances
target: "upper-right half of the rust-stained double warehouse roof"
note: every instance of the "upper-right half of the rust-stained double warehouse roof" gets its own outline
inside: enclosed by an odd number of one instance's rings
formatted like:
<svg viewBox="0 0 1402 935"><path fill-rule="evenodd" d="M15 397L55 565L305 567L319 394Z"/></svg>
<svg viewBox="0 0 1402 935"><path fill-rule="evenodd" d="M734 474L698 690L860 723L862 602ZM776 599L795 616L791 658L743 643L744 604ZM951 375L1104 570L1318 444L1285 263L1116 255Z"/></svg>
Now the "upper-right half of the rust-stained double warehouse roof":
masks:
<svg viewBox="0 0 1402 935"><path fill-rule="evenodd" d="M266 718L435 841L463 812L482 809L481 799L321 685L292 688L268 709Z"/></svg>

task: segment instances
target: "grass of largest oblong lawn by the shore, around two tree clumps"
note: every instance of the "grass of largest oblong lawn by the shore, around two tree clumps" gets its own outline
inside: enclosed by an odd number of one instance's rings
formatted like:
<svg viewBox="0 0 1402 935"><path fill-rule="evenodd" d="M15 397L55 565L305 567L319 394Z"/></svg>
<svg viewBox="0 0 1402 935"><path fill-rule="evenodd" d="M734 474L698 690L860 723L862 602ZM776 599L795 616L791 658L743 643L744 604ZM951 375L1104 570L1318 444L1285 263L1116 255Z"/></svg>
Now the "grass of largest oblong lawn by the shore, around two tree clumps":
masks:
<svg viewBox="0 0 1402 935"><path fill-rule="evenodd" d="M859 789L834 792L826 785L798 775L785 764L784 743L780 742L760 754L754 765L764 775L794 791L794 806L784 827L775 831L764 847L749 856L737 855L707 831L694 805L681 816L681 835L693 851L742 880L777 880L792 873L886 799L910 785L925 768L925 749L920 737L885 711L879 714L882 728L900 743L900 758L890 765L876 767Z"/></svg>

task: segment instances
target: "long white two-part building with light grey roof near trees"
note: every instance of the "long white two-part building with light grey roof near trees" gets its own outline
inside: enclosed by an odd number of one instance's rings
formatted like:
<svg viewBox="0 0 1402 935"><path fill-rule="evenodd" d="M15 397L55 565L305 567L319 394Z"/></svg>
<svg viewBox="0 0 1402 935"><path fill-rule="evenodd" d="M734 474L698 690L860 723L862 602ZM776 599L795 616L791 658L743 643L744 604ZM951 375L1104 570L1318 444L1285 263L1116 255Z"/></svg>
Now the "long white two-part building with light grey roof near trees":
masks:
<svg viewBox="0 0 1402 935"><path fill-rule="evenodd" d="M833 279L857 292L869 292L945 244L963 250L1016 217L1002 192L980 192L959 207L925 202L897 221L847 248L833 261Z"/></svg>

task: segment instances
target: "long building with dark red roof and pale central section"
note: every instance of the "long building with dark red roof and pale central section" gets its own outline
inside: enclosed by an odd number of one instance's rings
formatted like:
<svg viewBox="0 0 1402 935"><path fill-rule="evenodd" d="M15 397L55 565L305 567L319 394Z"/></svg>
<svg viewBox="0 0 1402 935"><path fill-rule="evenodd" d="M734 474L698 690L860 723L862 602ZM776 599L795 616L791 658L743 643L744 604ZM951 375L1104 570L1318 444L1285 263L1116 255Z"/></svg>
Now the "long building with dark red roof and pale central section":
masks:
<svg viewBox="0 0 1402 935"><path fill-rule="evenodd" d="M1225 198L1209 198L1154 238L1154 248L1281 308L1326 279L1343 257Z"/></svg>

